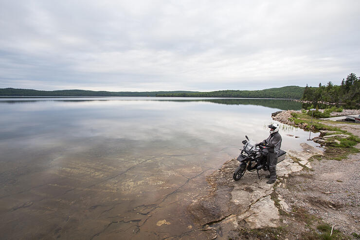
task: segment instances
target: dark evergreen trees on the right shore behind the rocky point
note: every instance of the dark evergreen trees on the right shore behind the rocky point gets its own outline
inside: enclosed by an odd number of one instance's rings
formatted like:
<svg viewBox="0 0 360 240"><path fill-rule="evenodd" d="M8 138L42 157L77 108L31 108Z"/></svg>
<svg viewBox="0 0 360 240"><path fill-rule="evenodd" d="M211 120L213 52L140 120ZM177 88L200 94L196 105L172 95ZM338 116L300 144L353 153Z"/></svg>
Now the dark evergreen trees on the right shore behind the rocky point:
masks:
<svg viewBox="0 0 360 240"><path fill-rule="evenodd" d="M325 86L321 83L319 87L306 85L302 100L317 103L320 101L328 103L360 103L360 78L355 73L347 75L342 79L341 85L334 85L329 81Z"/></svg>

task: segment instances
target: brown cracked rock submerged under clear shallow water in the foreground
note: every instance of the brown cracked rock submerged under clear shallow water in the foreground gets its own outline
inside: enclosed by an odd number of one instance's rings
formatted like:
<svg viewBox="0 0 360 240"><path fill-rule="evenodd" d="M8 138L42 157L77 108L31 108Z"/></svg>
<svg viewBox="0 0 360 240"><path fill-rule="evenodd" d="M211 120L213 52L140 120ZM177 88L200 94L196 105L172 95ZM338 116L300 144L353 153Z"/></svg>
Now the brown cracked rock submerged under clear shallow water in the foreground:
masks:
<svg viewBox="0 0 360 240"><path fill-rule="evenodd" d="M206 239L187 212L210 188L206 164L172 151L106 161L74 155L50 165L15 182L0 176L1 239Z"/></svg>

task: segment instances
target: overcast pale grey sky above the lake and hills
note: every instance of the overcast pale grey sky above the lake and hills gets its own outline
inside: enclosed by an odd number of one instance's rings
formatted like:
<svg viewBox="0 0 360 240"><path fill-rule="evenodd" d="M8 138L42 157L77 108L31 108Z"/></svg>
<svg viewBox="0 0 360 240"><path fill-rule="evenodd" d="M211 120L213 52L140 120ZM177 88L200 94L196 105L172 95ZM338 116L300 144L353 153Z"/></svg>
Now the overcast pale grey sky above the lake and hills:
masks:
<svg viewBox="0 0 360 240"><path fill-rule="evenodd" d="M339 85L359 24L359 0L0 0L0 88Z"/></svg>

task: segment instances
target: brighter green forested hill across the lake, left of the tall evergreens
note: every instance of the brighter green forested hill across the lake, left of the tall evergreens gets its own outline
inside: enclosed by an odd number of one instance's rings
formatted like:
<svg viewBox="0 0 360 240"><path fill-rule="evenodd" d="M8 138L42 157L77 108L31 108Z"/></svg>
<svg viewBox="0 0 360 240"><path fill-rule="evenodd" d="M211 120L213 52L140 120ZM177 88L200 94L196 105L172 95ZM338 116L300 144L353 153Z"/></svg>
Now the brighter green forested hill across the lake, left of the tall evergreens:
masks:
<svg viewBox="0 0 360 240"><path fill-rule="evenodd" d="M214 97L214 98L287 98L301 99L305 87L283 86L264 90L222 90L213 92L167 93L157 97Z"/></svg>

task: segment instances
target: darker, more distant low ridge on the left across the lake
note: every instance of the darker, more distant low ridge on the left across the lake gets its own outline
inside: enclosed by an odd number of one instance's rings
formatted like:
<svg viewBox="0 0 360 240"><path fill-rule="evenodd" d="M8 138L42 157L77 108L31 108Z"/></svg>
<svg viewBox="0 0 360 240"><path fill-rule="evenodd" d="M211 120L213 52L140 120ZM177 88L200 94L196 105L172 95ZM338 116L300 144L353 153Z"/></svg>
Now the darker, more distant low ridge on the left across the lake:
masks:
<svg viewBox="0 0 360 240"><path fill-rule="evenodd" d="M155 97L157 94L196 93L191 91L157 91L157 92L108 92L90 90L55 90L41 91L20 88L0 88L0 96L49 96L49 97Z"/></svg>

